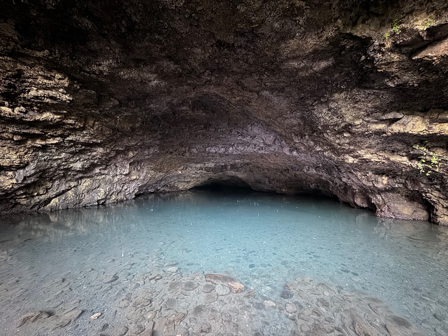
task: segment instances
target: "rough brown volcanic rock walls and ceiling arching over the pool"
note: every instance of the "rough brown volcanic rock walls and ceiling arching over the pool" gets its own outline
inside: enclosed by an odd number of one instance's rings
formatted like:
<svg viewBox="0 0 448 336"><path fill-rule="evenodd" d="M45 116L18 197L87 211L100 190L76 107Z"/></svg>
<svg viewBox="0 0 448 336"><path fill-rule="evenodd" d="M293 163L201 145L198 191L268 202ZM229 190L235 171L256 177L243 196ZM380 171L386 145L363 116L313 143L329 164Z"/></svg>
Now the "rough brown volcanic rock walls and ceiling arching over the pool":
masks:
<svg viewBox="0 0 448 336"><path fill-rule="evenodd" d="M227 184L448 225L447 17L445 0L2 1L0 212Z"/></svg>

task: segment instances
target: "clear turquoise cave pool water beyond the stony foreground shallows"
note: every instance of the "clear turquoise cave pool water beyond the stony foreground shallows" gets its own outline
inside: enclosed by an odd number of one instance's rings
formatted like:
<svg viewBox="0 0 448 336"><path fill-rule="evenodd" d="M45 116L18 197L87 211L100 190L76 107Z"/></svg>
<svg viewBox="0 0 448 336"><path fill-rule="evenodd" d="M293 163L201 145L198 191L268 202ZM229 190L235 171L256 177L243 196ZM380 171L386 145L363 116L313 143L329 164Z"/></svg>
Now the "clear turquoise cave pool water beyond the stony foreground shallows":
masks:
<svg viewBox="0 0 448 336"><path fill-rule="evenodd" d="M142 272L159 260L184 274L228 272L274 298L307 275L379 297L428 335L448 334L448 228L380 219L334 199L204 189L2 222L0 314L35 308L48 279L111 273L131 257ZM27 300L7 299L15 286ZM88 287L82 295L92 297Z"/></svg>

